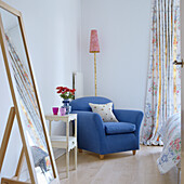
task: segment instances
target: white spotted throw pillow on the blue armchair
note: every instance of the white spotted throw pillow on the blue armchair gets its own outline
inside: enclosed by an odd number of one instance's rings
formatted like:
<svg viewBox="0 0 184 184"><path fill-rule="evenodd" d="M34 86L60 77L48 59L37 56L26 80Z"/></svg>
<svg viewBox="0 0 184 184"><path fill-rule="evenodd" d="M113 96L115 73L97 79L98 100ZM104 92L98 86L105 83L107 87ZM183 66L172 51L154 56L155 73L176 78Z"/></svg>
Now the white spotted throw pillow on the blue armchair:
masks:
<svg viewBox="0 0 184 184"><path fill-rule="evenodd" d="M108 104L92 104L89 103L93 113L97 113L104 122L118 122L113 113L113 103Z"/></svg>

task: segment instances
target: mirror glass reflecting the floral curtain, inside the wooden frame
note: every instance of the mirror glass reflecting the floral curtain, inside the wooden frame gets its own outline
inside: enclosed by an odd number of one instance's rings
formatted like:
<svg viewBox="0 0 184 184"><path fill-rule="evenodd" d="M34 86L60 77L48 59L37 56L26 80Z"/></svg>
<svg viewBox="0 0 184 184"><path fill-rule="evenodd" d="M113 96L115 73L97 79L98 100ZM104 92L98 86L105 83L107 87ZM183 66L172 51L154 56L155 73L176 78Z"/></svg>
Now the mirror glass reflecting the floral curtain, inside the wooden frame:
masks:
<svg viewBox="0 0 184 184"><path fill-rule="evenodd" d="M26 134L34 158L38 183L50 183L54 179L53 170L28 67L18 18L2 9L0 9L0 14L10 54L9 62L12 67L11 69L14 76L15 88L18 93L17 103L22 108L22 111L19 113L22 114L22 120L26 127Z"/></svg>

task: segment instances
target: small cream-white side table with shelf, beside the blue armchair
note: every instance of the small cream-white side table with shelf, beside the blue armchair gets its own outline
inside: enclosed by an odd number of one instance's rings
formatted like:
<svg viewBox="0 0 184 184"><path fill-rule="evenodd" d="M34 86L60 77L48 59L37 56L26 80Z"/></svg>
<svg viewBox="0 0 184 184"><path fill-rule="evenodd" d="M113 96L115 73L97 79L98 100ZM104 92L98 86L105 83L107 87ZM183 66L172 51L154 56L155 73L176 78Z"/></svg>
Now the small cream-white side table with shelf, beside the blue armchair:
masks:
<svg viewBox="0 0 184 184"><path fill-rule="evenodd" d="M52 147L66 149L66 176L69 176L69 152L75 148L75 169L77 169L77 114L69 114L65 116L47 115L49 120L49 134L51 137ZM69 136L69 122L75 120L75 134ZM66 122L66 136L55 136L51 134L52 121Z"/></svg>

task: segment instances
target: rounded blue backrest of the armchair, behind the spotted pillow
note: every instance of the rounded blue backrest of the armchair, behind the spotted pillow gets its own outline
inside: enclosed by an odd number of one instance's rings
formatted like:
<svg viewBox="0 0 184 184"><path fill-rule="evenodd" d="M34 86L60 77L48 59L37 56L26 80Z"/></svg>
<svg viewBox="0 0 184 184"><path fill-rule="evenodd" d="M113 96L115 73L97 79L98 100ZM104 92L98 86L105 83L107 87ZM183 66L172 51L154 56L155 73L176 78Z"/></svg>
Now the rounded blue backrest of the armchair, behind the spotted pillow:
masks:
<svg viewBox="0 0 184 184"><path fill-rule="evenodd" d="M87 96L87 97L80 97L75 101L71 101L70 105L73 107L73 110L92 111L89 103L107 104L109 102L111 102L111 101L106 97Z"/></svg>

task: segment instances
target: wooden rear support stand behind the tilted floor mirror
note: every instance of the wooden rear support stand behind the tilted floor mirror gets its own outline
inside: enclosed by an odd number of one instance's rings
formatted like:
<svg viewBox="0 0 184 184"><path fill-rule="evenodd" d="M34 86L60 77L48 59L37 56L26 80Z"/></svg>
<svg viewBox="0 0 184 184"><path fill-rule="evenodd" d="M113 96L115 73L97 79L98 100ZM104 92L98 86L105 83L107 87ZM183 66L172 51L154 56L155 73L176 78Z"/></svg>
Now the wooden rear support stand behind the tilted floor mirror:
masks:
<svg viewBox="0 0 184 184"><path fill-rule="evenodd" d="M8 148L8 144L9 144L9 140L10 140L10 135L12 132L12 127L13 127L13 122L14 122L14 118L15 118L15 107L11 107L10 113L9 113L9 118L8 118L8 122L6 122L6 127L5 127L5 131L3 134L3 139L2 139L2 144L1 144L1 148L0 148L0 172L2 169L2 165L4 161L4 156L6 153L6 148ZM25 153L24 153L24 146L22 148L21 152L21 156L19 156L19 160L17 163L17 168L15 171L15 175L12 179L4 179L2 178L1 182L2 184L13 184L13 183L27 183L27 182L19 182L19 176L21 176L21 170L22 170L22 166L23 166L23 161L25 159ZM28 168L29 170L29 168ZM29 174L31 173L31 171L29 171Z"/></svg>

